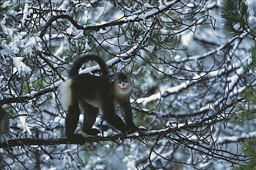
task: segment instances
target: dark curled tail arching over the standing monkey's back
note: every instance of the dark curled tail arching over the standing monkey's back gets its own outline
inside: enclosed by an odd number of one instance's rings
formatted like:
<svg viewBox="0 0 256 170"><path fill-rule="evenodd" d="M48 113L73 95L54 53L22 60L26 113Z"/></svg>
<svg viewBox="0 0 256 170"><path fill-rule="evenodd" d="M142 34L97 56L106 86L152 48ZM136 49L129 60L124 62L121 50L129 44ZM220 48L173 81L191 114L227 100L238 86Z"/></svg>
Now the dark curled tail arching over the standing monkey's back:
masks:
<svg viewBox="0 0 256 170"><path fill-rule="evenodd" d="M82 65L87 62L87 61L96 61L102 71L102 74L104 76L108 75L108 71L107 71L107 65L105 63L105 61L99 56L99 55L95 55L95 54L87 54L84 55L82 57L79 57L78 59L76 59L73 63L73 65L71 66L70 70L69 70L69 77L78 75L78 71L79 69L82 67Z"/></svg>

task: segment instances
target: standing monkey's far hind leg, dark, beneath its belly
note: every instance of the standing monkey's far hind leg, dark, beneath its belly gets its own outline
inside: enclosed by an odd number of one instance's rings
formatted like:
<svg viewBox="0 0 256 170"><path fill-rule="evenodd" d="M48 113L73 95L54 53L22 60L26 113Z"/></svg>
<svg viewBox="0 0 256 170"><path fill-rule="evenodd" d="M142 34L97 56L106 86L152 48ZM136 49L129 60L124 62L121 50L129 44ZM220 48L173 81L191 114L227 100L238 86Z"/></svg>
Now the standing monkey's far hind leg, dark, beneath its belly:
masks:
<svg viewBox="0 0 256 170"><path fill-rule="evenodd" d="M83 108L84 112L83 132L91 136L97 136L100 131L98 129L92 128L92 126L96 121L99 109L83 101L79 101L79 104Z"/></svg>

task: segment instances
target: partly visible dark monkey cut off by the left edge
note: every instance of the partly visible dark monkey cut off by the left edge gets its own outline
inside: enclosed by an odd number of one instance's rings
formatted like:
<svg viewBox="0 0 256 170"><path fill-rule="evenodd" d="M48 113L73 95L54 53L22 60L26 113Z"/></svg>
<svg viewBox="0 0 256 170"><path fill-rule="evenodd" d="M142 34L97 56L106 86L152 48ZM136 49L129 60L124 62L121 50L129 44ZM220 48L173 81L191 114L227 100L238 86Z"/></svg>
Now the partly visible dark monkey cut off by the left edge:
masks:
<svg viewBox="0 0 256 170"><path fill-rule="evenodd" d="M10 122L7 112L0 105L0 143L5 142L10 132Z"/></svg>

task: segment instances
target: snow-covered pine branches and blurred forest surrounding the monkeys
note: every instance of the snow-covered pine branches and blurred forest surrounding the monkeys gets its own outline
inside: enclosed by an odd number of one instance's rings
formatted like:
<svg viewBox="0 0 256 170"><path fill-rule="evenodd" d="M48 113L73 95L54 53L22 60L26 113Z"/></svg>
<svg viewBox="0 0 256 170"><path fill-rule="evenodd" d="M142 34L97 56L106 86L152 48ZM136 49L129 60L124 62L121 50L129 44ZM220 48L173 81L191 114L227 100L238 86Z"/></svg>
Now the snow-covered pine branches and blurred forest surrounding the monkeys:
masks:
<svg viewBox="0 0 256 170"><path fill-rule="evenodd" d="M1 0L0 17L0 169L256 170L256 1ZM87 53L131 77L148 131L99 116L100 136L65 138L58 86Z"/></svg>

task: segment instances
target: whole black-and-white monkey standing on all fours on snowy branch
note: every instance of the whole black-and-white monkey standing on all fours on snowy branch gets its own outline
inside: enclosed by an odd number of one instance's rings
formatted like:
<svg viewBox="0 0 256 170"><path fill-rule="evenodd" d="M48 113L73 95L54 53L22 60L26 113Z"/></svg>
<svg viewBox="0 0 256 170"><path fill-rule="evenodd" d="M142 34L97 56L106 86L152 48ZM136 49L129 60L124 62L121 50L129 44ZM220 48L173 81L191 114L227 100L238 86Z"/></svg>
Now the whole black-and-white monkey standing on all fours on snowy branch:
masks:
<svg viewBox="0 0 256 170"><path fill-rule="evenodd" d="M79 69L87 61L96 61L102 76L89 73L79 74ZM92 128L99 113L101 118L122 133L136 132L139 128L134 124L129 97L132 82L122 72L109 74L104 60L94 54L79 57L69 70L69 78L60 87L60 102L66 112L65 135L69 138L82 136L75 134L80 110L84 112L82 131L90 136L97 136L100 131ZM117 103L120 106L125 122L115 113Z"/></svg>

